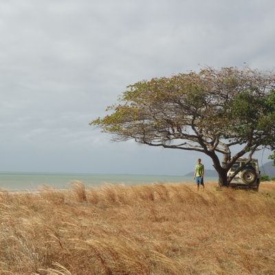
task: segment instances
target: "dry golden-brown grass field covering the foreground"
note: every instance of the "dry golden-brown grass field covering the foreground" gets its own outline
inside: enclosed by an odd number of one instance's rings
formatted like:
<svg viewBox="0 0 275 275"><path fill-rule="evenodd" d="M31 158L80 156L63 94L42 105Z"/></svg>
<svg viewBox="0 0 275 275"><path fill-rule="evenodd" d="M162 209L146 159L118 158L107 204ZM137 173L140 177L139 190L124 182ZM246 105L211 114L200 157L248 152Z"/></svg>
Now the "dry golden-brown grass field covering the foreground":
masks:
<svg viewBox="0 0 275 275"><path fill-rule="evenodd" d="M0 274L275 274L275 183L0 192Z"/></svg>

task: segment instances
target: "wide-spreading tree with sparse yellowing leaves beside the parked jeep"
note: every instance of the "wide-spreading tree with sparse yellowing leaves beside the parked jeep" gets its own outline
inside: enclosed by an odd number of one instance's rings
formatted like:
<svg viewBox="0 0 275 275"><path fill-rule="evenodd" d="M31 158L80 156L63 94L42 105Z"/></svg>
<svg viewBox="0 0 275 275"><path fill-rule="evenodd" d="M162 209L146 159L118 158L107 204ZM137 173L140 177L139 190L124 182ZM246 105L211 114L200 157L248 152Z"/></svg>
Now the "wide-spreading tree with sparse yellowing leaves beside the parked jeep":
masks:
<svg viewBox="0 0 275 275"><path fill-rule="evenodd" d="M113 140L198 151L211 157L219 184L236 159L275 148L275 75L248 67L199 72L129 85L111 112L93 120ZM232 150L233 149L233 150ZM232 151L236 151L234 154ZM221 161L219 157L221 156Z"/></svg>

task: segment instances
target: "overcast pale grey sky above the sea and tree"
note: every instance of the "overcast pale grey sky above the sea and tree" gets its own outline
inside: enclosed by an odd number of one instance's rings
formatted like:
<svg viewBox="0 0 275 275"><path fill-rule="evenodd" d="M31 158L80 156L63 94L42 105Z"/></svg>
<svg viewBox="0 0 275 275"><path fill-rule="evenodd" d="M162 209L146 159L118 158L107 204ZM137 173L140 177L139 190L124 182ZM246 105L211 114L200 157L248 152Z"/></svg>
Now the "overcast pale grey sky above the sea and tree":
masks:
<svg viewBox="0 0 275 275"><path fill-rule="evenodd" d="M274 70L274 14L272 0L1 0L0 170L184 175L198 157L212 168L199 153L111 142L89 122L139 80Z"/></svg>

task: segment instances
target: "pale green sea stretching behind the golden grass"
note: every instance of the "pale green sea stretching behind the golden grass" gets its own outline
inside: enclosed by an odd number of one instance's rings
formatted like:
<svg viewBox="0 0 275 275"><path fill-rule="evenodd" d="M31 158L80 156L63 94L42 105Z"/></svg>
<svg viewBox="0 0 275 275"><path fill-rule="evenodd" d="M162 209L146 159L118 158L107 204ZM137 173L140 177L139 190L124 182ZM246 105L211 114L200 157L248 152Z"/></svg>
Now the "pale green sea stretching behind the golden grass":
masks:
<svg viewBox="0 0 275 275"><path fill-rule="evenodd" d="M205 181L215 181L208 177ZM192 177L173 175L115 175L115 174L80 174L80 173L10 173L0 172L0 188L5 190L35 190L41 186L68 188L74 181L82 181L87 187L103 184L153 184L158 183L193 183Z"/></svg>

